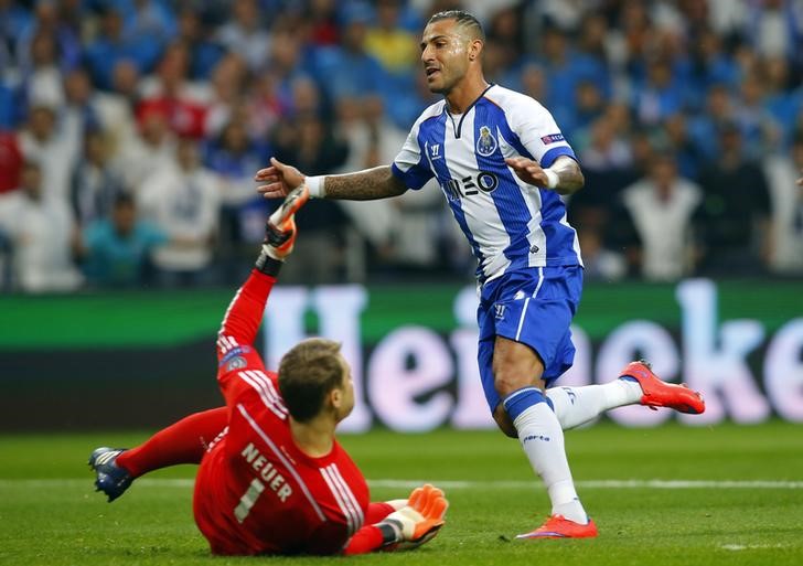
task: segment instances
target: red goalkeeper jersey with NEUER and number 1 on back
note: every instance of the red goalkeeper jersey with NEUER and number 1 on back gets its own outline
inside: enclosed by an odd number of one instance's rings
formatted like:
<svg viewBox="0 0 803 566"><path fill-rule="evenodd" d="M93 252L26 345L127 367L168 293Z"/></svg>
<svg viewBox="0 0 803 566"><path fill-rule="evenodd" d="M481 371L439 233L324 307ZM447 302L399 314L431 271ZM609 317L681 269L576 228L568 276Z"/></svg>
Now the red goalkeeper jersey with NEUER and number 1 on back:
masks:
<svg viewBox="0 0 803 566"><path fill-rule="evenodd" d="M365 520L368 488L336 440L322 458L293 442L276 374L251 345L274 282L254 271L218 333L228 427L201 462L195 522L216 554L336 554Z"/></svg>

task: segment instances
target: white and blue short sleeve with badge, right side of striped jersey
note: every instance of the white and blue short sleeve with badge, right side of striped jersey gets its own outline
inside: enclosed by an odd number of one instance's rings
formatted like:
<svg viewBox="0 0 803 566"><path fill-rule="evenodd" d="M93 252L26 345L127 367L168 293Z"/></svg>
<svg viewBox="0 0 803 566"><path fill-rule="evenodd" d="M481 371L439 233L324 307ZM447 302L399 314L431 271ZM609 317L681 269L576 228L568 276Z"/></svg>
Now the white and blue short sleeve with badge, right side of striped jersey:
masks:
<svg viewBox="0 0 803 566"><path fill-rule="evenodd" d="M529 156L540 167L549 167L560 156L577 160L553 115L538 102L523 97L512 108L510 122Z"/></svg>

